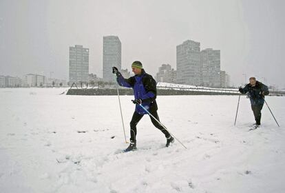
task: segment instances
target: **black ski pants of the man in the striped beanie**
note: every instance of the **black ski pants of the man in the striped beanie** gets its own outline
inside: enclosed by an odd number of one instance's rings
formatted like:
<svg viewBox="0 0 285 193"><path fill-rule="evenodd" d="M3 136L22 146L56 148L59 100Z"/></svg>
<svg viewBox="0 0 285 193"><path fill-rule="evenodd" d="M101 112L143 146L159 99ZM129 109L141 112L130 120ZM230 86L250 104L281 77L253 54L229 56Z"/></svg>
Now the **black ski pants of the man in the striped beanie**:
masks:
<svg viewBox="0 0 285 193"><path fill-rule="evenodd" d="M159 121L159 117L158 117L158 112L155 111L151 111L151 114L156 117L156 119L158 119ZM134 112L133 117L131 118L131 138L130 141L136 141L136 125L138 124L138 122L140 121L140 119L142 119L142 116L144 116L144 114L138 114L138 112ZM158 123L153 117L151 117L149 115L150 119L151 119L151 123L154 124L154 126L156 128L158 128L158 130L160 130L163 134L165 134L166 138L169 138L170 134L167 130L165 130L165 128L162 127L162 125L160 125L160 123Z"/></svg>

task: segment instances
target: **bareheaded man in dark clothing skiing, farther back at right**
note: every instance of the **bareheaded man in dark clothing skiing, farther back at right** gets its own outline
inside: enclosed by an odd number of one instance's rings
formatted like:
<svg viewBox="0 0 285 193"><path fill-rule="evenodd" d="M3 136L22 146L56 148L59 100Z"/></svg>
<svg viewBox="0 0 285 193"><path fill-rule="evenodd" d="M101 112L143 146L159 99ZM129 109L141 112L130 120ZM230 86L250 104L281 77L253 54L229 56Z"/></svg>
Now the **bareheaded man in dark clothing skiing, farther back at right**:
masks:
<svg viewBox="0 0 285 193"><path fill-rule="evenodd" d="M264 96L269 94L268 87L263 83L256 81L255 77L249 79L249 84L244 88L240 87L240 93L246 94L251 100L251 109L255 117L255 128L260 127L261 110L264 105Z"/></svg>

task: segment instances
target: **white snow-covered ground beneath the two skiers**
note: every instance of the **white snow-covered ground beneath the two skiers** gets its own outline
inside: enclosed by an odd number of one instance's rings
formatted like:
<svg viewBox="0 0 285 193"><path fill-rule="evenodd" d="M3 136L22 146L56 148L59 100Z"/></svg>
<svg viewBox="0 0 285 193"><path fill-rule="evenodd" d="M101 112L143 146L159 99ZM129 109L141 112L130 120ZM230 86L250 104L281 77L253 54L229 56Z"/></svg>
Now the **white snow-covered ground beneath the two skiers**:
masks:
<svg viewBox="0 0 285 193"><path fill-rule="evenodd" d="M138 151L124 142L117 96L67 96L65 89L0 89L0 192L285 192L285 98L266 99L262 128L238 96L158 96L165 138L148 116ZM121 96L125 128L134 111ZM114 136L114 137L113 137Z"/></svg>

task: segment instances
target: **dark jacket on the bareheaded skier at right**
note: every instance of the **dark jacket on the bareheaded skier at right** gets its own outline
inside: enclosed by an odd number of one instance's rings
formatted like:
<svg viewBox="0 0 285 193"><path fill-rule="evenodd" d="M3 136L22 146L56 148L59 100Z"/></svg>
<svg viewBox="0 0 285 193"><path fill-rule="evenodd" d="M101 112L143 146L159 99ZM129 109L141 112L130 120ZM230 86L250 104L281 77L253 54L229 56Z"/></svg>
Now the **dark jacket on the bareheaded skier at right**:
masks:
<svg viewBox="0 0 285 193"><path fill-rule="evenodd" d="M252 86L250 83L242 88L242 94L246 94L251 100L251 105L263 105L264 104L264 95L268 95L268 87L263 83L256 81L255 86ZM262 94L264 93L264 94Z"/></svg>

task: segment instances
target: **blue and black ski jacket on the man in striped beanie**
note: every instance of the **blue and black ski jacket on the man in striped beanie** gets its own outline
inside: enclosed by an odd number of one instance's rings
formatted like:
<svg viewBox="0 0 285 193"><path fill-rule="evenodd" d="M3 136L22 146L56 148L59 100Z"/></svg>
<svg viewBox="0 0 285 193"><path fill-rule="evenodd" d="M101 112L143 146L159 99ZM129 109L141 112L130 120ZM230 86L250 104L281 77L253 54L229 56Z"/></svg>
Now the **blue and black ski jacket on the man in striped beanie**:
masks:
<svg viewBox="0 0 285 193"><path fill-rule="evenodd" d="M148 111L158 110L158 105L156 104L156 81L145 70L142 69L140 75L135 75L129 79L125 79L122 74L118 73L117 81L123 87L133 88L135 99L141 99L142 106ZM147 114L140 105L136 105L136 112L138 114Z"/></svg>

